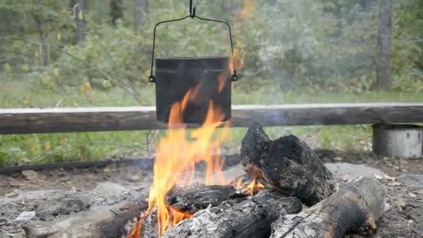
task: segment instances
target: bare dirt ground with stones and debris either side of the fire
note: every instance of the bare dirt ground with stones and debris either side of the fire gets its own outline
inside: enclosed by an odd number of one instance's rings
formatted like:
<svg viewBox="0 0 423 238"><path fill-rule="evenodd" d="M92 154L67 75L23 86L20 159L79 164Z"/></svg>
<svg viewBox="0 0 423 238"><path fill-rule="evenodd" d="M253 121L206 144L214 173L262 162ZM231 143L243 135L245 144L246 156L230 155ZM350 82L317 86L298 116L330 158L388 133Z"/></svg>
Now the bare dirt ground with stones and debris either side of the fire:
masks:
<svg viewBox="0 0 423 238"><path fill-rule="evenodd" d="M375 175L388 188L388 198L385 212L378 221L378 230L371 237L423 237L423 159L381 158L367 152L316 152L325 163L365 164L387 175ZM66 196L64 191L87 196L87 201L78 203L77 207L58 212L60 217L87 209L85 204L111 205L129 199L132 192L147 191L151 182L151 170L116 165L83 169L26 170L11 175L0 175L0 237L6 233L22 237L20 222L13 220L23 211L40 210L42 201L51 196L34 192L32 198L26 196L21 200L22 194L29 194L29 191L60 193L58 199L65 196L72 200L71 193ZM51 221L57 218L49 216L44 219Z"/></svg>

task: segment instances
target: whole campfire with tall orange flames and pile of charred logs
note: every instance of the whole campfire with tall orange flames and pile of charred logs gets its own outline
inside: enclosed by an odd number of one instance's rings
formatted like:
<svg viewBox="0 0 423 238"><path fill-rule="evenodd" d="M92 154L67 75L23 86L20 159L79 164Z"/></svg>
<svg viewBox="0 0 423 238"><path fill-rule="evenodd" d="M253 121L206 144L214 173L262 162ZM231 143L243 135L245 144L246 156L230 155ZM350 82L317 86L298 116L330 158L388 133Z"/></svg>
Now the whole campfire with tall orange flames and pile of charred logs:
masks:
<svg viewBox="0 0 423 238"><path fill-rule="evenodd" d="M128 238L139 237L342 237L374 232L385 188L376 180L334 180L319 157L293 135L274 141L260 123L241 145L246 174L228 181L219 149L228 122L209 102L202 126L191 133L182 115L195 90L170 110L168 134L157 147L148 208ZM219 128L221 127L221 128ZM189 136L187 136L189 135ZM207 164L205 177L195 166ZM303 209L303 206L308 208Z"/></svg>

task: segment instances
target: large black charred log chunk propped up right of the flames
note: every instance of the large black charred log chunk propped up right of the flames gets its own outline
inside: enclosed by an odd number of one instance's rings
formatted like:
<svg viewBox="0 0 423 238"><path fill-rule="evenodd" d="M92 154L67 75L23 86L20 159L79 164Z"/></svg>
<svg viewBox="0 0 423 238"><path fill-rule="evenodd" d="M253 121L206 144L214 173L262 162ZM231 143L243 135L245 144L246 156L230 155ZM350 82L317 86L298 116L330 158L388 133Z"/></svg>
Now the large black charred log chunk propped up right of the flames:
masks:
<svg viewBox="0 0 423 238"><path fill-rule="evenodd" d="M260 123L244 136L241 161L248 173L306 205L333 193L332 174L305 142L293 135L271 141Z"/></svg>

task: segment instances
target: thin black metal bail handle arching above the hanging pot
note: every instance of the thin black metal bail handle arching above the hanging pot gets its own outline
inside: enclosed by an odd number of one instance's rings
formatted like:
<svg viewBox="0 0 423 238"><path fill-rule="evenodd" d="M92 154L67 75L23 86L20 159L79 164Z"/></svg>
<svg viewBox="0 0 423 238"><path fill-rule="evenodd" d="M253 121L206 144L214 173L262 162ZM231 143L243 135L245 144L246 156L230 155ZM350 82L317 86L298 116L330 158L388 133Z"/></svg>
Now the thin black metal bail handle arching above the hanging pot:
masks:
<svg viewBox="0 0 423 238"><path fill-rule="evenodd" d="M155 45L156 45L156 29L157 29L157 26L159 26L160 24L169 23L169 22L179 22L179 21L182 21L186 18L198 18L202 21L218 22L218 23L223 23L226 26L228 26L229 39L230 39L230 51L231 51L231 54L232 54L232 64L233 64L233 67L234 67L234 72L232 73L231 80L232 81L238 81L239 77L237 75L237 70L235 68L234 44L232 42L232 31L230 30L230 25L228 24L228 22L223 22L223 21L219 21L219 20L216 20L216 19L208 19L208 18L204 18L204 17L198 17L198 15L195 15L195 8L193 8L193 0L189 1L189 15L187 15L186 17L178 18L178 19L170 19L170 20L167 20L167 21L159 22L154 26L153 48L152 48L152 55L151 55L151 70L150 70L150 76L148 77L148 81L150 81L150 83L156 82L156 77L154 77L154 75L153 75L153 68L154 68L154 49L155 49Z"/></svg>

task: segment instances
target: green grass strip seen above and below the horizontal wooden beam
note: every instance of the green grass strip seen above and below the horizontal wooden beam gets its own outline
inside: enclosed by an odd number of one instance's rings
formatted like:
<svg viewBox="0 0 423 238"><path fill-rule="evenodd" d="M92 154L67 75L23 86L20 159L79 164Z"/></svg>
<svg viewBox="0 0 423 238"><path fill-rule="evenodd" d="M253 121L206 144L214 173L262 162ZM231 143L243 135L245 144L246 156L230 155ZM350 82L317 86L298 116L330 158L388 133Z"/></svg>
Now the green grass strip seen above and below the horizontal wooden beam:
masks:
<svg viewBox="0 0 423 238"><path fill-rule="evenodd" d="M237 84L242 84L241 81ZM88 100L91 98L91 100ZM79 88L52 91L12 81L0 84L0 107L27 106L136 106L154 105L154 86L142 89L142 97L135 100L125 90L108 92L93 90L84 94ZM248 93L235 88L233 104L291 104L330 102L423 102L418 93L328 93L320 90L296 90L288 93L276 88L262 88ZM260 118L257 118L260 120ZM238 152L246 128L231 129L228 153ZM301 136L320 148L351 150L360 148L371 138L369 126L312 126L266 128L271 138L287 133ZM166 131L152 132L92 132L67 134L30 134L0 136L0 166L13 164L38 164L75 160L99 160L111 157L145 156L154 152L159 138ZM148 135L150 151L147 151Z"/></svg>

